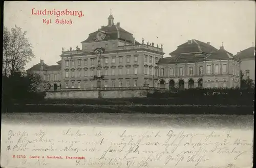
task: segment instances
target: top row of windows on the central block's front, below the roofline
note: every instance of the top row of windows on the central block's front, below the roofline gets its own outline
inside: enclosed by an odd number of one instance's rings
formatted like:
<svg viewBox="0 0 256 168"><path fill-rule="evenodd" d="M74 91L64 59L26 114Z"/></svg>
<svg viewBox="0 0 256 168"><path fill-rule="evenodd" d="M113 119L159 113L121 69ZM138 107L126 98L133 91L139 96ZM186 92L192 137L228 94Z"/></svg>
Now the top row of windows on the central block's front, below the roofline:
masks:
<svg viewBox="0 0 256 168"><path fill-rule="evenodd" d="M111 58L111 63L115 63L116 58ZM109 58L104 58L105 64L109 63ZM119 57L119 63L123 62L123 56ZM131 62L131 56L126 56L126 63ZM134 62L138 62L138 56L134 56ZM84 59L84 65L88 65L88 59ZM91 65L95 65L95 58L91 58ZM71 66L75 67L75 60L71 60ZM81 60L77 60L77 66L81 66ZM66 67L69 67L69 61L66 61Z"/></svg>

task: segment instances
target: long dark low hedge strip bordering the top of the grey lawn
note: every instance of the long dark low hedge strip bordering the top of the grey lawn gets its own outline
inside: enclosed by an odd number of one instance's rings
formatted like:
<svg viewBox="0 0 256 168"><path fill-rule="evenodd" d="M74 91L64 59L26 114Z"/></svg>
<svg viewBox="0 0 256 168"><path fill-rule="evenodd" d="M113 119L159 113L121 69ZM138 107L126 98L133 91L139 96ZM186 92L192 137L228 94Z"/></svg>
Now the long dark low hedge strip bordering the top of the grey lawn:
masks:
<svg viewBox="0 0 256 168"><path fill-rule="evenodd" d="M253 106L201 105L14 105L5 112L30 113L159 113L159 114L252 114Z"/></svg>

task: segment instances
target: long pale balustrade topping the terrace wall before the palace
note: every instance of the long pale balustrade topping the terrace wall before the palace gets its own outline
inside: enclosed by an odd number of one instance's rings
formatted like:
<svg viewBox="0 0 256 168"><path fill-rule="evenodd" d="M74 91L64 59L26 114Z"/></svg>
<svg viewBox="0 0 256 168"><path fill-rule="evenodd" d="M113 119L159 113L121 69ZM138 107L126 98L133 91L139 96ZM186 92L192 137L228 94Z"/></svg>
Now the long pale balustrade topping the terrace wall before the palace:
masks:
<svg viewBox="0 0 256 168"><path fill-rule="evenodd" d="M48 89L46 91L79 91L79 90L166 90L166 88L160 88L160 87L149 87L149 86L143 86L143 87L86 87L86 88L58 88L58 89Z"/></svg>

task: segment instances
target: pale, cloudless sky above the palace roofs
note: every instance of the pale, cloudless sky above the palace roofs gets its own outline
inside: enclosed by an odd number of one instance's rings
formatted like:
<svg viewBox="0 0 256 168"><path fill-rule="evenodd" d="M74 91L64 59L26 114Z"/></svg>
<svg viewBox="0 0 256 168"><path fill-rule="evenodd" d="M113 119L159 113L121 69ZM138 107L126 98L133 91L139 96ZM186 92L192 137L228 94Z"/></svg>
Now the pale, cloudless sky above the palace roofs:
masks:
<svg viewBox="0 0 256 168"><path fill-rule="evenodd" d="M78 16L32 15L36 10L82 11ZM61 59L62 47L67 51L89 33L108 24L112 9L114 22L133 34L141 43L154 41L163 43L164 57L187 40L197 39L217 49L224 42L225 50L237 54L255 46L255 2L254 1L148 1L148 2L5 2L4 26L15 25L27 31L33 45L35 58L26 66L44 60L54 65ZM57 25L55 19L72 19L72 25ZM46 25L42 19L51 19Z"/></svg>

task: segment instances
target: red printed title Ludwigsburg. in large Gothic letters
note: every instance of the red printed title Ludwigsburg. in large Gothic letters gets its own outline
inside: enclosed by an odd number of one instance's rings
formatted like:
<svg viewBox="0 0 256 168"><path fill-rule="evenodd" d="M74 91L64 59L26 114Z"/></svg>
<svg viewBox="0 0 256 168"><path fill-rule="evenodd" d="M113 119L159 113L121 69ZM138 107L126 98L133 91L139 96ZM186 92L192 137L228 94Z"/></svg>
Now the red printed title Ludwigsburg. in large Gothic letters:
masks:
<svg viewBox="0 0 256 168"><path fill-rule="evenodd" d="M68 10L68 9L65 9L65 10L56 10L56 9L53 9L53 10L47 10L47 9L36 10L35 8L32 8L31 10L32 10L31 11L32 15L55 15L57 17L63 16L63 15L78 16L78 17L84 16L82 14L82 11L72 11L72 10Z"/></svg>

